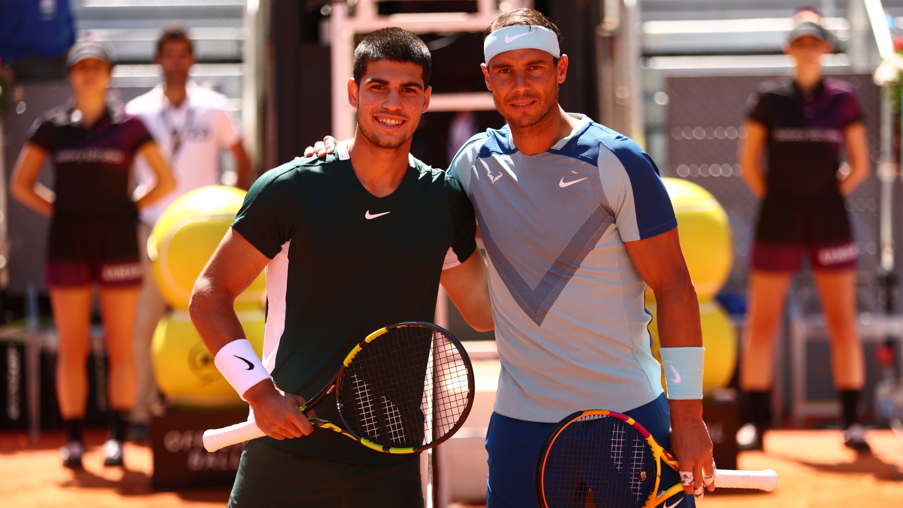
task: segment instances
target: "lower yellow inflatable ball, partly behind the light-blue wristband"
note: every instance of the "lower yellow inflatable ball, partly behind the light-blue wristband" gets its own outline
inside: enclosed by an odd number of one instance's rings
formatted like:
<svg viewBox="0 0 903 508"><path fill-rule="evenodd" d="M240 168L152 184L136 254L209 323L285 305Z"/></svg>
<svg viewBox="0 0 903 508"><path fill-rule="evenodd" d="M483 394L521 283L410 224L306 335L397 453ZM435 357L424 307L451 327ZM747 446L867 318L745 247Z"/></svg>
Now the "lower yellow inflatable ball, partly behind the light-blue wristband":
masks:
<svg viewBox="0 0 903 508"><path fill-rule="evenodd" d="M652 334L652 354L658 363L662 357L658 354L658 322L655 305L647 306L652 313L649 332ZM723 388L731 383L734 369L737 368L737 329L731 323L728 313L714 301L699 303L699 318L703 326L703 346L705 347L705 364L703 368L703 393ZM662 375L662 386L665 376Z"/></svg>

